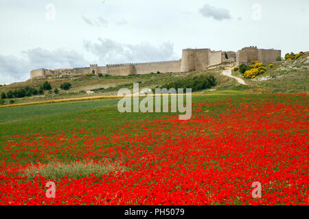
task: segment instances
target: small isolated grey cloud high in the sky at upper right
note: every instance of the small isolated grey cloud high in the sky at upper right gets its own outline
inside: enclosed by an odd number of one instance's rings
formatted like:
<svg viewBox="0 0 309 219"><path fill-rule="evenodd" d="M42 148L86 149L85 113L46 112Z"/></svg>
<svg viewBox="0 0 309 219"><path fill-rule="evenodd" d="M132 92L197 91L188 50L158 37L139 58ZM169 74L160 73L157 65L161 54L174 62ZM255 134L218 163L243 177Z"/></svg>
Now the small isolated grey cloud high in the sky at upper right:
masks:
<svg viewBox="0 0 309 219"><path fill-rule="evenodd" d="M222 21L223 19L231 19L231 15L229 14L229 10L225 8L216 8L215 6L205 4L203 8L199 10L199 12L209 18L214 18L217 21Z"/></svg>

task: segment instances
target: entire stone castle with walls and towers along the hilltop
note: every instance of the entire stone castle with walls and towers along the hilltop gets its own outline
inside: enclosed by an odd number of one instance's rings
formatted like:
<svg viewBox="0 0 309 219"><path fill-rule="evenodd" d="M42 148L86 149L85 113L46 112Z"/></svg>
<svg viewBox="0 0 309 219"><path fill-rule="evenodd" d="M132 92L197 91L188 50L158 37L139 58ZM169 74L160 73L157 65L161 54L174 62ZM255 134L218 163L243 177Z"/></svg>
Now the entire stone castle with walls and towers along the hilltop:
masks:
<svg viewBox="0 0 309 219"><path fill-rule="evenodd" d="M223 63L236 62L247 63L251 61L275 62L277 57L281 57L281 51L273 49L258 49L257 47L246 47L237 53L232 51L211 51L211 49L183 49L183 55L180 60L168 62L145 62L130 64L107 64L98 66L91 64L86 68L60 68L48 70L40 68L32 70L30 78L40 78L57 75L146 75L150 73L179 73L190 70L206 70L210 66L216 66Z"/></svg>

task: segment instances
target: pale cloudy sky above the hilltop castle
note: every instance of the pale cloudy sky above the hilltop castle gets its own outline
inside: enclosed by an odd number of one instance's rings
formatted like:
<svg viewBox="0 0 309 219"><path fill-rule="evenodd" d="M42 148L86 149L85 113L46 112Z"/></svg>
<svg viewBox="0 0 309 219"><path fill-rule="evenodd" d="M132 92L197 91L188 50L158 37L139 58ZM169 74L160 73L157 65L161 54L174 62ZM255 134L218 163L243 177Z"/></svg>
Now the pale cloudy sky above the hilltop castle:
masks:
<svg viewBox="0 0 309 219"><path fill-rule="evenodd" d="M182 49L309 51L308 0L1 0L0 84L37 68L179 60Z"/></svg>

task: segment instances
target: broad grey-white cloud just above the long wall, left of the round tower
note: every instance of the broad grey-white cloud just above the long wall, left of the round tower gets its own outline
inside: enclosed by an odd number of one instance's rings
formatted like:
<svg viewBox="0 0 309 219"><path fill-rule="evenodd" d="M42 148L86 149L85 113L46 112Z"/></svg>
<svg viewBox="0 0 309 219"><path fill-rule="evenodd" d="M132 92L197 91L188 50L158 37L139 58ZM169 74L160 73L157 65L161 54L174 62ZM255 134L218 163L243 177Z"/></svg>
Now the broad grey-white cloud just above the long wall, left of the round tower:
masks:
<svg viewBox="0 0 309 219"><path fill-rule="evenodd" d="M174 45L170 42L156 47L149 42L121 44L111 39L99 38L95 43L84 41L84 48L96 55L101 65L179 59L174 53Z"/></svg>

